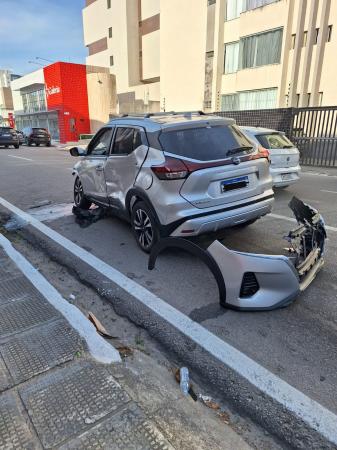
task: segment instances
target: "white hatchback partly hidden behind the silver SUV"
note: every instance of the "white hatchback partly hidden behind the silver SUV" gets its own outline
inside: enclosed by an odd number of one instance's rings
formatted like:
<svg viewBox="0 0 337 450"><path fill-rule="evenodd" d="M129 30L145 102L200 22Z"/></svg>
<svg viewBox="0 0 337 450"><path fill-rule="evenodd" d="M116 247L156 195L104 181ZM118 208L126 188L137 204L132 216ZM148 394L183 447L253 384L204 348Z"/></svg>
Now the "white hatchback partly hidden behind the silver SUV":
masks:
<svg viewBox="0 0 337 450"><path fill-rule="evenodd" d="M253 142L270 153L270 173L275 187L286 188L300 178L300 153L282 131L260 127L240 127Z"/></svg>

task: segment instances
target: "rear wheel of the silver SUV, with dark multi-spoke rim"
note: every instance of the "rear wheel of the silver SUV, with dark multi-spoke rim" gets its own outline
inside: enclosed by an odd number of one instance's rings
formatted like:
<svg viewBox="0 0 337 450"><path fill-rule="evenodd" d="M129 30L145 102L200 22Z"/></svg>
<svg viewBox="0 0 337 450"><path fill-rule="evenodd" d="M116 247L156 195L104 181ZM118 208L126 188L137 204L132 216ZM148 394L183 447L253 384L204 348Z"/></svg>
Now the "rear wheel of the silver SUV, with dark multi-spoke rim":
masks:
<svg viewBox="0 0 337 450"><path fill-rule="evenodd" d="M160 239L158 221L153 212L143 201L137 202L131 212L131 226L138 246L145 253Z"/></svg>

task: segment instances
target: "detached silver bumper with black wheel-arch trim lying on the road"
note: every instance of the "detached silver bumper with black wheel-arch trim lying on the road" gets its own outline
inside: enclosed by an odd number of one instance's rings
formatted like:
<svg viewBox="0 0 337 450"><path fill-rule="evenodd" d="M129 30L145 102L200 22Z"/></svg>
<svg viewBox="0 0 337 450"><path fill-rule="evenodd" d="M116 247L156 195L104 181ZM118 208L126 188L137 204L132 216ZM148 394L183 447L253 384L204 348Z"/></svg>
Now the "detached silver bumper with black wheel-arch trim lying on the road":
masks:
<svg viewBox="0 0 337 450"><path fill-rule="evenodd" d="M218 284L222 306L250 311L287 306L323 266L326 239L324 220L316 210L296 197L289 207L299 225L285 237L287 256L232 251L219 241L204 250L185 239L166 238L153 248L149 269L164 249L179 247L207 264Z"/></svg>

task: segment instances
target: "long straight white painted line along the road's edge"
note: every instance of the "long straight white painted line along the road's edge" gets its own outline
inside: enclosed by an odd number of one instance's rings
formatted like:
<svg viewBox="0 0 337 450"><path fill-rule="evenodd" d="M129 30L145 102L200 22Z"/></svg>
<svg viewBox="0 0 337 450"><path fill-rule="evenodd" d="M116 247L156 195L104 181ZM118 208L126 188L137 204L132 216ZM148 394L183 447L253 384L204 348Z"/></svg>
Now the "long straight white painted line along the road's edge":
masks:
<svg viewBox="0 0 337 450"><path fill-rule="evenodd" d="M188 316L166 303L160 297L139 285L134 280L131 280L117 269L79 247L71 240L65 238L31 215L12 205L2 197L0 197L0 204L26 221L27 224L32 225L45 236L52 239L61 247L80 258L94 270L110 279L113 283L120 286L125 292L131 294L155 314L171 324L185 336L188 336L189 339L192 339L222 364L229 366L232 370L256 386L260 391L272 397L306 422L311 428L337 445L337 416L333 412L286 383L235 347L232 347L227 342L221 340L202 325L194 322Z"/></svg>

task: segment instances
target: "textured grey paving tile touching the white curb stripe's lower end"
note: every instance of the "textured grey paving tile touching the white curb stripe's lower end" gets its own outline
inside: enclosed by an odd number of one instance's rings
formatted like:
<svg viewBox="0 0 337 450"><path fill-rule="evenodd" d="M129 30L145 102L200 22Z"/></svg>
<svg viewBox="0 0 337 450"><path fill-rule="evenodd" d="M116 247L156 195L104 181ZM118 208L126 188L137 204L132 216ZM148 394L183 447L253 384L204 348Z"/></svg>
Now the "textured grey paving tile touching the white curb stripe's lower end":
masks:
<svg viewBox="0 0 337 450"><path fill-rule="evenodd" d="M46 372L76 357L83 342L66 322L59 320L17 335L0 346L0 353L15 384Z"/></svg>

